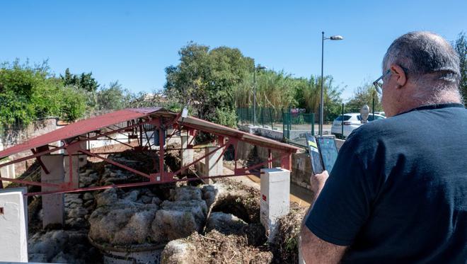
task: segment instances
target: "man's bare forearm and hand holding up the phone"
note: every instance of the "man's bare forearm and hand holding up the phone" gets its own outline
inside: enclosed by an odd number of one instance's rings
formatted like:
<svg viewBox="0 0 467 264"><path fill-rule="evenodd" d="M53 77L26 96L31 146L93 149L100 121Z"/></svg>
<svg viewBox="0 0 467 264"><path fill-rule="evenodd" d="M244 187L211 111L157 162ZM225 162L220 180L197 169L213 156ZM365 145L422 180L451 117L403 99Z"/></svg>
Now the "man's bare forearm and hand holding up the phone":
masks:
<svg viewBox="0 0 467 264"><path fill-rule="evenodd" d="M323 190L323 186L328 177L328 171L323 171L323 173L316 174L310 178L314 196L310 208L305 214L304 221L301 224L299 241L301 258L303 258L304 263L339 263L347 249L347 246L338 246L318 238L318 236L315 236L315 234L305 226L306 217L311 211L314 202L318 199L321 190Z"/></svg>

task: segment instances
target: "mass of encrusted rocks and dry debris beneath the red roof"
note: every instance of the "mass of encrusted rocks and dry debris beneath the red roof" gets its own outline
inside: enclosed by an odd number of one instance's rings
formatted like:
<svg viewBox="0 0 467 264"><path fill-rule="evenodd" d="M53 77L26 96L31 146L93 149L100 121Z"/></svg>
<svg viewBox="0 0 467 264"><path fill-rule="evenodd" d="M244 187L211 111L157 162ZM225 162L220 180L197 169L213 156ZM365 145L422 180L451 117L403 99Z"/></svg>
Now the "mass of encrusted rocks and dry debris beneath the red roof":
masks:
<svg viewBox="0 0 467 264"><path fill-rule="evenodd" d="M112 159L149 169L147 163L122 154ZM140 181L141 177L103 163L88 163L80 173L80 187L132 180ZM294 214L281 220L278 239L267 245L260 224L258 188L226 178L212 185L185 184L67 193L64 226L30 232L29 260L101 263L103 256L98 248L132 251L166 245L162 263L295 262L294 239L303 216ZM34 208L30 214L37 216L31 226L42 223L38 203L40 199L30 204Z"/></svg>

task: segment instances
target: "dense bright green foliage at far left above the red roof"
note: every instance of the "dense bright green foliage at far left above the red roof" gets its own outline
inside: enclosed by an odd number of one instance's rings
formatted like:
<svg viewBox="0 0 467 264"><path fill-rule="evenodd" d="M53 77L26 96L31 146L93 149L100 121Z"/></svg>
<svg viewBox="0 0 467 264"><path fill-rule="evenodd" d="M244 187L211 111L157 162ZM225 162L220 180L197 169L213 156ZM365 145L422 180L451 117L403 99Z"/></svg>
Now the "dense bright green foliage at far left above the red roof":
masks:
<svg viewBox="0 0 467 264"><path fill-rule="evenodd" d="M0 127L28 125L40 117L76 120L85 113L86 96L64 87L47 61L30 66L18 60L0 67Z"/></svg>

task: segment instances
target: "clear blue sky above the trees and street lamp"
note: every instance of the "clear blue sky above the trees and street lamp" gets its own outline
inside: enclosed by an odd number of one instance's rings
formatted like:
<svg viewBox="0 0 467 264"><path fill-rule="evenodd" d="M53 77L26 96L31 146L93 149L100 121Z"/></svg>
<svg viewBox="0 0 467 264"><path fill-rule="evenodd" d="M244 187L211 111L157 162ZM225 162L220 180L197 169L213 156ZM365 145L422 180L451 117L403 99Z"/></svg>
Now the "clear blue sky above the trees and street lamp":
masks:
<svg viewBox="0 0 467 264"><path fill-rule="evenodd" d="M411 30L449 41L467 32L467 1L1 1L0 62L49 60L55 74L92 71L100 84L163 87L189 41L238 47L270 69L294 76L324 72L345 88L381 74L388 45Z"/></svg>

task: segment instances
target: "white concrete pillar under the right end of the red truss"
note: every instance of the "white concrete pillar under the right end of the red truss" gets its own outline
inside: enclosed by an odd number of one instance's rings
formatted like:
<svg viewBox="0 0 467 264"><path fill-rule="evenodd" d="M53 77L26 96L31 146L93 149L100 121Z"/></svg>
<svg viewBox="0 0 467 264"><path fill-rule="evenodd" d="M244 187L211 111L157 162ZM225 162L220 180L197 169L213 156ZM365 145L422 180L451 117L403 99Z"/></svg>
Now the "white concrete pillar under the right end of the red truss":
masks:
<svg viewBox="0 0 467 264"><path fill-rule="evenodd" d="M277 220L289 213L290 171L283 168L261 169L260 193L260 222L271 242L277 231Z"/></svg>

